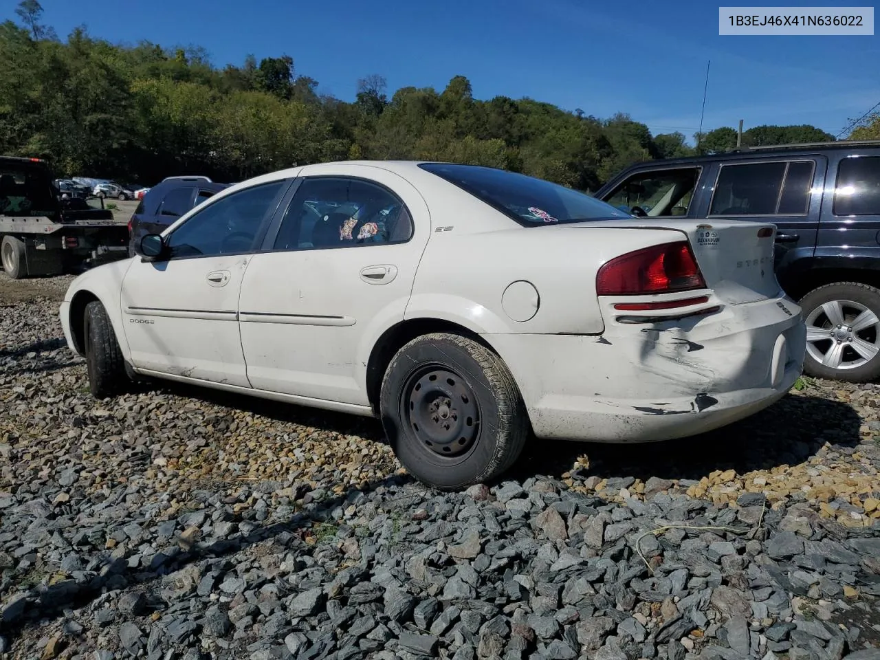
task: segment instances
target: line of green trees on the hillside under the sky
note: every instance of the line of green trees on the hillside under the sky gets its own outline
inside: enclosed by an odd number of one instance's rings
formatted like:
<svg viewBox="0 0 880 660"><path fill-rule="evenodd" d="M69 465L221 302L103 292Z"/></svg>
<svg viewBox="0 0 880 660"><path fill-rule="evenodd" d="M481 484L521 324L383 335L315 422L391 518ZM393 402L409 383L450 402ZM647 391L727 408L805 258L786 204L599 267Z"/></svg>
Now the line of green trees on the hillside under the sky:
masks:
<svg viewBox="0 0 880 660"><path fill-rule="evenodd" d="M714 153L737 131L687 144L628 114L598 118L535 99L474 99L464 76L442 92L378 75L351 102L319 93L289 55L216 67L202 48L60 40L37 0L0 25L0 154L48 158L60 176L146 185L178 174L238 181L292 165L344 159L428 159L491 165L596 190L634 162ZM818 128L758 126L743 143L830 141Z"/></svg>

